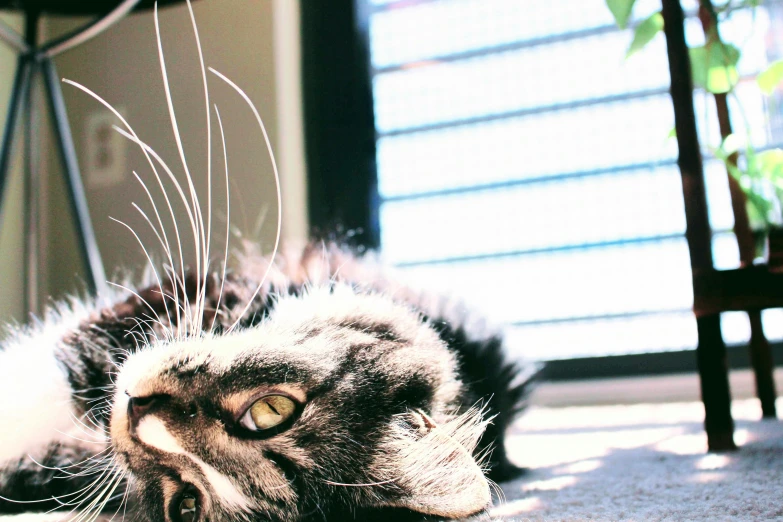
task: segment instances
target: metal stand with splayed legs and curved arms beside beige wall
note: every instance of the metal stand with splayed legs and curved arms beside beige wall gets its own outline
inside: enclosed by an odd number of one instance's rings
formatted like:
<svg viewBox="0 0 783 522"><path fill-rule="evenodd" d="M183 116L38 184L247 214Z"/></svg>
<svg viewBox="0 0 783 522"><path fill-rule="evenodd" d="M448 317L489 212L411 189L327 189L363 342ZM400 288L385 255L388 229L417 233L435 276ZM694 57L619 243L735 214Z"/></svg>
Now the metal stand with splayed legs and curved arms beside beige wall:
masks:
<svg viewBox="0 0 783 522"><path fill-rule="evenodd" d="M90 292L103 289L106 276L101 261L95 232L90 221L76 149L68 124L60 79L53 58L97 36L128 14L140 0L124 0L105 16L80 27L76 31L44 45L38 45L40 12L28 10L24 37L0 22L0 40L19 52L18 66L8 106L8 116L0 143L0 206L11 165L15 134L22 119L24 139L25 176L25 309L35 311L39 299L39 115L35 104L35 86L38 77L45 87L49 111L53 120L54 136L68 187L70 208L76 219L79 250L86 269L86 283Z"/></svg>

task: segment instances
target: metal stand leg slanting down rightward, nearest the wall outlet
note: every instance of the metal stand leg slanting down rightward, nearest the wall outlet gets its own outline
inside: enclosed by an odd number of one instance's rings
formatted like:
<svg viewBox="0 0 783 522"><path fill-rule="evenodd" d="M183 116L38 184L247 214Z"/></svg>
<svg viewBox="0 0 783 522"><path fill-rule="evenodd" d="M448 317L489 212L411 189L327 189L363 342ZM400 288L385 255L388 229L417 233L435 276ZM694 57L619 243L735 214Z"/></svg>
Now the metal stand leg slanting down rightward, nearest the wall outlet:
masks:
<svg viewBox="0 0 783 522"><path fill-rule="evenodd" d="M73 145L63 93L60 89L60 79L50 58L43 58L40 66L44 84L46 85L46 97L49 100L51 113L54 118L57 147L65 168L71 210L77 221L79 247L87 268L87 284L91 292L101 291L106 284L106 274L103 270L98 242L95 239L95 231L90 221L87 197L85 196L84 185L79 174L76 148Z"/></svg>

